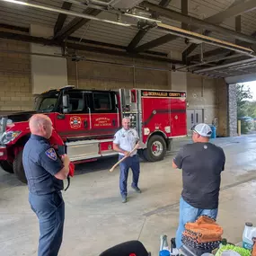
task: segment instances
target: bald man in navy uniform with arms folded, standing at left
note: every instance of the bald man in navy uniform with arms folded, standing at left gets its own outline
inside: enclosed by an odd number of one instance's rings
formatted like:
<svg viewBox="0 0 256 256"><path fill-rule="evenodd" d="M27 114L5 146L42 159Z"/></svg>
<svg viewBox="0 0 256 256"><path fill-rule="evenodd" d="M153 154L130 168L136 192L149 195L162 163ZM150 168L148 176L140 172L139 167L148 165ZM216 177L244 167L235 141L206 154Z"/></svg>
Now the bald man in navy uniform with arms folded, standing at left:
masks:
<svg viewBox="0 0 256 256"><path fill-rule="evenodd" d="M22 162L29 188L31 209L40 224L39 256L57 256L63 237L65 203L63 180L69 172L69 158L57 156L49 145L52 122L46 115L30 119L31 138L23 149Z"/></svg>

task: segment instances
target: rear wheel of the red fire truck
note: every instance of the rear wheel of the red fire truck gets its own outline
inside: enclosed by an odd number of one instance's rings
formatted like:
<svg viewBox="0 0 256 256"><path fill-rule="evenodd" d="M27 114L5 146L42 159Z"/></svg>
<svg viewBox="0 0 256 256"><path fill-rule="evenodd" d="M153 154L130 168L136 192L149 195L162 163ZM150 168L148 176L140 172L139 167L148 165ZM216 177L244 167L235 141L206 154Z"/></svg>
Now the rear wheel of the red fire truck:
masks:
<svg viewBox="0 0 256 256"><path fill-rule="evenodd" d="M143 154L148 162L163 160L166 154L166 142L164 138L159 135L150 137Z"/></svg>

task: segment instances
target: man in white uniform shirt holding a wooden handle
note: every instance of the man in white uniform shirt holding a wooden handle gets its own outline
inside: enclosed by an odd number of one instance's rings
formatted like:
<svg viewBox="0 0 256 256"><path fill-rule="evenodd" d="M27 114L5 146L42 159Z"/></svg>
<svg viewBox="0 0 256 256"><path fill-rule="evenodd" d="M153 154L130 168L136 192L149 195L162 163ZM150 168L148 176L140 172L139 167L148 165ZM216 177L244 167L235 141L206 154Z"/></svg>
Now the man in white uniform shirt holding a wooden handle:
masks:
<svg viewBox="0 0 256 256"><path fill-rule="evenodd" d="M137 150L132 154L129 152L139 147L139 137L137 131L134 128L130 128L130 119L122 119L122 127L115 134L113 141L113 149L119 152L119 160L124 156L128 156L120 165L120 176L119 176L119 190L122 197L122 202L127 202L127 181L128 181L128 170L131 168L133 173L133 182L131 184L132 189L136 190L137 193L141 193L141 190L137 187L139 178L139 157Z"/></svg>

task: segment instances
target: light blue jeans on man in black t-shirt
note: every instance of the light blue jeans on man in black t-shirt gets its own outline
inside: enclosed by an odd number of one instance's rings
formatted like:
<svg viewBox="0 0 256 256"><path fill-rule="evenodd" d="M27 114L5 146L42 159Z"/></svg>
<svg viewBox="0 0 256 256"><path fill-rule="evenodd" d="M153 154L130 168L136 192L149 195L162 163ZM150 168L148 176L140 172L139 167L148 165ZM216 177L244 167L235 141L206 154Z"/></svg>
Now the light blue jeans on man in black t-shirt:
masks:
<svg viewBox="0 0 256 256"><path fill-rule="evenodd" d="M190 206L184 199L180 199L180 220L179 227L176 232L176 247L181 248L181 236L185 231L185 225L188 222L195 222L199 216L209 216L211 218L215 218L217 216L217 208L216 209L198 209Z"/></svg>

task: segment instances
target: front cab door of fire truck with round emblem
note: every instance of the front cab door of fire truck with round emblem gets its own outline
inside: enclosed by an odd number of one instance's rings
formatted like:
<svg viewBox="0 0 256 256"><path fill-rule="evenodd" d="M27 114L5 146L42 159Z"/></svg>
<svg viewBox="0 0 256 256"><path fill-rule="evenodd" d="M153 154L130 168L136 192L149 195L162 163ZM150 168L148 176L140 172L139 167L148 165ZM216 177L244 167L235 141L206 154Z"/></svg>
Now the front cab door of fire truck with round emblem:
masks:
<svg viewBox="0 0 256 256"><path fill-rule="evenodd" d="M67 92L69 95L68 113L57 114L56 129L61 137L90 136L90 119L86 97L81 92Z"/></svg>

